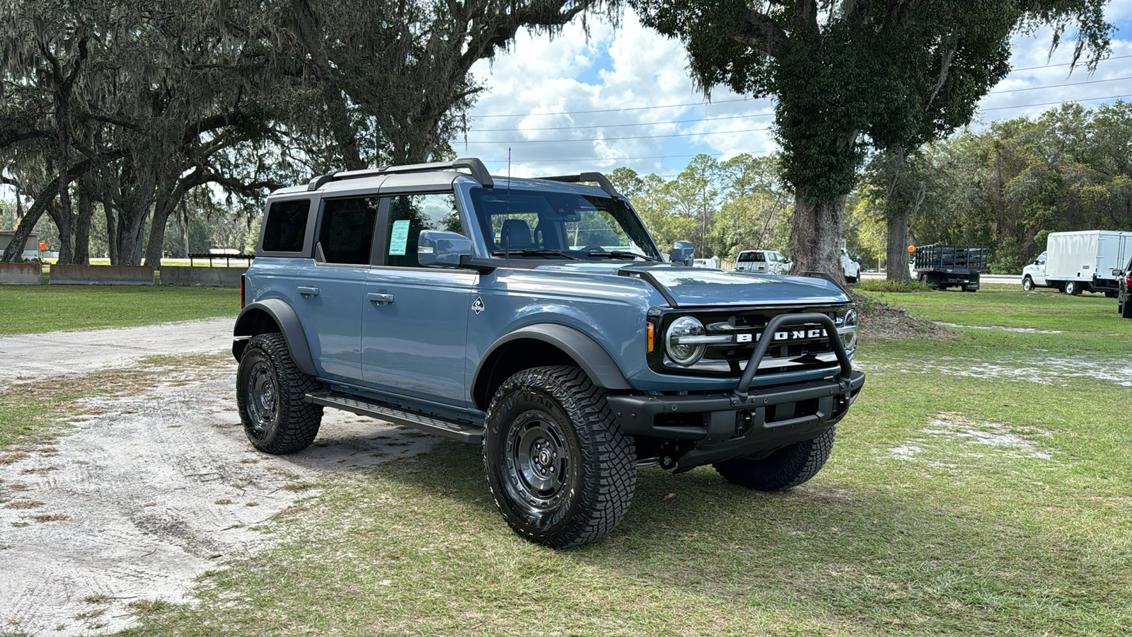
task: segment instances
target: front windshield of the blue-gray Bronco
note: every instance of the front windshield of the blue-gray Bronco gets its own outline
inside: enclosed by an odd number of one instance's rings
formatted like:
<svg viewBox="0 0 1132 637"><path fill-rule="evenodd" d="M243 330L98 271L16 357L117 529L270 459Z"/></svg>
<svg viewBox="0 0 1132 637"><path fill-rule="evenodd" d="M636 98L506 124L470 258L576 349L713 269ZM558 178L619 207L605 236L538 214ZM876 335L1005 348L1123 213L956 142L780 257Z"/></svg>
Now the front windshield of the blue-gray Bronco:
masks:
<svg viewBox="0 0 1132 637"><path fill-rule="evenodd" d="M648 230L629 206L610 197L541 190L472 188L475 221L495 254L537 256L552 250L577 258L589 253L632 253L659 260ZM593 258L608 258L597 255Z"/></svg>

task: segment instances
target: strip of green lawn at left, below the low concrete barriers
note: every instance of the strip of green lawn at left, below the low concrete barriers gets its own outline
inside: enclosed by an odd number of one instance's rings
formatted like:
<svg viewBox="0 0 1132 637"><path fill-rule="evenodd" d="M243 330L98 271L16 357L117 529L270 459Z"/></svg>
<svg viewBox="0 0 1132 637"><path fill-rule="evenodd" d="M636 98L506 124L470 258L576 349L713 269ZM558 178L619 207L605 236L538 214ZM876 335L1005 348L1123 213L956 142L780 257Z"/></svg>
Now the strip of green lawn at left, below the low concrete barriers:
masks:
<svg viewBox="0 0 1132 637"><path fill-rule="evenodd" d="M232 316L240 291L151 286L0 286L0 334Z"/></svg>

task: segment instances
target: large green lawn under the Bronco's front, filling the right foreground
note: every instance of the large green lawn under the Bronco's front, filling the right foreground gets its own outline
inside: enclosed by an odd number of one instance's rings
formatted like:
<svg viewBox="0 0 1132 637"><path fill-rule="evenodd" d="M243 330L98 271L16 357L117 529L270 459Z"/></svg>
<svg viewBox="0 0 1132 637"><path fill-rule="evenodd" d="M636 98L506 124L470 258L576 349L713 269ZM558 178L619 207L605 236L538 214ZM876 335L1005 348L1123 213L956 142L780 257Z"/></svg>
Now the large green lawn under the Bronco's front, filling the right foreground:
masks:
<svg viewBox="0 0 1132 637"><path fill-rule="evenodd" d="M645 468L625 521L571 551L511 533L475 447L327 475L268 549L126 635L1126 635L1132 321L1017 287L875 296L1062 333L863 341L813 481Z"/></svg>

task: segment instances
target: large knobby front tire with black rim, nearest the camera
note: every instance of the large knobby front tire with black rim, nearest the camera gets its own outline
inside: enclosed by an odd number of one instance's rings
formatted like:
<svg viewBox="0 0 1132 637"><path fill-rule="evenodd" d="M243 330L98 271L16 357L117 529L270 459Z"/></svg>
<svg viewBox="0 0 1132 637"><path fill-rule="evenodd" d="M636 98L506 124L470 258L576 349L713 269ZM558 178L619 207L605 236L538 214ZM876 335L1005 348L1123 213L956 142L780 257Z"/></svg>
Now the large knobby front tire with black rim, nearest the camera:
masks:
<svg viewBox="0 0 1132 637"><path fill-rule="evenodd" d="M606 392L578 367L524 370L491 398L483 468L496 507L531 542L595 542L628 511L636 484L632 441Z"/></svg>

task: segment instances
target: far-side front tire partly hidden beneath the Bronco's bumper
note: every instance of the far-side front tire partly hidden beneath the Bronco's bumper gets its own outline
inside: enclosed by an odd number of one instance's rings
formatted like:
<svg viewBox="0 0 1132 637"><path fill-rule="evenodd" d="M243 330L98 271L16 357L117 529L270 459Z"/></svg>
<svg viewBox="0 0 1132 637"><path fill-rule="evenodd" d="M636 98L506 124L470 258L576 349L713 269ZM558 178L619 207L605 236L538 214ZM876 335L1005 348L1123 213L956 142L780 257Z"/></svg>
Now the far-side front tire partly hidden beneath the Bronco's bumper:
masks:
<svg viewBox="0 0 1132 637"><path fill-rule="evenodd" d="M822 470L833 451L837 427L814 440L796 442L766 458L738 458L712 465L727 482L754 491L784 491L808 481Z"/></svg>

